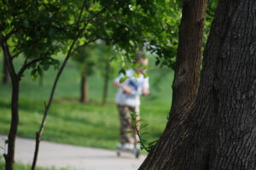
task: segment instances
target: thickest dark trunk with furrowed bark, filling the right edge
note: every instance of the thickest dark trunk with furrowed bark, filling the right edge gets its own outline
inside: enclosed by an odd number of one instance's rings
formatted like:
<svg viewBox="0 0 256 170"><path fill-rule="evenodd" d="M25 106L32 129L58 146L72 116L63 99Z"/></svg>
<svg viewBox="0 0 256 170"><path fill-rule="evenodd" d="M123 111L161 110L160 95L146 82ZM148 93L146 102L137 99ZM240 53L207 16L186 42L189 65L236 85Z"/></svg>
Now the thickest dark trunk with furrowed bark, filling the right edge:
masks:
<svg viewBox="0 0 256 170"><path fill-rule="evenodd" d="M141 169L256 169L256 2L218 2L198 97L171 116Z"/></svg>

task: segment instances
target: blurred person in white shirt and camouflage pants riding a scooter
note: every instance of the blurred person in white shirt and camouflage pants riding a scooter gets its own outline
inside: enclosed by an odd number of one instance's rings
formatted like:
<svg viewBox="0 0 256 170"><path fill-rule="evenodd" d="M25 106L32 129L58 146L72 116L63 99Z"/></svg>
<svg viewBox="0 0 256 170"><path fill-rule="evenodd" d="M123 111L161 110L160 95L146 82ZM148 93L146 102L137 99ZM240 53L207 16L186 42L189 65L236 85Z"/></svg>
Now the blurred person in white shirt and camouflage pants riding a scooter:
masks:
<svg viewBox="0 0 256 170"><path fill-rule="evenodd" d="M116 104L119 111L120 119L120 141L118 144L119 149L133 150L134 143L139 143L136 128L132 125L131 112L136 113L137 120L139 120L139 106L140 96L149 95L149 82L148 77L144 76L144 72L147 71L145 67L148 65L148 59L143 58L143 51L137 51L137 59L132 69L125 71L124 74L120 74L119 77L114 79L113 85L119 88L116 95ZM120 82L122 77L127 77L125 82ZM137 122L137 129L139 129L139 122ZM125 133L126 131L134 131L134 134ZM137 144L139 148L139 144Z"/></svg>

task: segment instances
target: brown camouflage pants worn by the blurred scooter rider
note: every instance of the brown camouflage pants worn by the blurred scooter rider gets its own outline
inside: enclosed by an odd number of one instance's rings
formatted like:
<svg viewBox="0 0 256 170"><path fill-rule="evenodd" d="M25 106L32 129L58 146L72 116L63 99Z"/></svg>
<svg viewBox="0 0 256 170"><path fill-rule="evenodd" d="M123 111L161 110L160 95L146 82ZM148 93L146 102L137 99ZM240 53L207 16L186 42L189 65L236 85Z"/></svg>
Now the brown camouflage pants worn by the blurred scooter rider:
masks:
<svg viewBox="0 0 256 170"><path fill-rule="evenodd" d="M119 119L120 119L120 143L135 143L135 133L136 128L132 125L131 120L127 119L127 117L131 117L131 112L136 112L137 119L139 118L139 108L131 107L127 105L118 105L119 110ZM139 128L139 124L137 124L137 128ZM134 131L135 133L125 133L126 131ZM138 141L136 141L138 142Z"/></svg>

